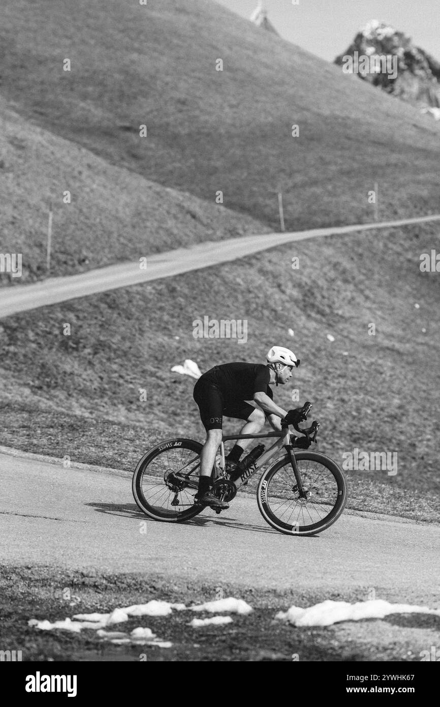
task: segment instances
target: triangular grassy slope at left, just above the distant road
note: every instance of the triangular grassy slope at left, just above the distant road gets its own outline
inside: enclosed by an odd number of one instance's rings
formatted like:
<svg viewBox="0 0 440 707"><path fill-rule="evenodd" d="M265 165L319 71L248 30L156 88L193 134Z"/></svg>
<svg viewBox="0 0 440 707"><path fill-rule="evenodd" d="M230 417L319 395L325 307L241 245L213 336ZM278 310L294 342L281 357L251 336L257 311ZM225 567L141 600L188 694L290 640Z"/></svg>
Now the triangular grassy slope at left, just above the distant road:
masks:
<svg viewBox="0 0 440 707"><path fill-rule="evenodd" d="M248 214L162 187L33 126L0 101L0 252L23 253L21 284L46 274L49 200L51 274L72 274L179 245L265 233ZM64 204L63 192L71 192Z"/></svg>

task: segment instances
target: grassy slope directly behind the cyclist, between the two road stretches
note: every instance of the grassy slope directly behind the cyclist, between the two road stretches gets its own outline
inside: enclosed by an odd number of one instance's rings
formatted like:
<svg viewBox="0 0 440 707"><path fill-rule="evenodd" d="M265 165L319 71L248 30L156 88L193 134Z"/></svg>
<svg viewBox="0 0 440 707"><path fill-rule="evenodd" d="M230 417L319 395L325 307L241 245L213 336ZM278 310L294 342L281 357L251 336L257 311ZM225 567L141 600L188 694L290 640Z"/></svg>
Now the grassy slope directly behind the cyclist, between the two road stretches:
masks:
<svg viewBox="0 0 440 707"><path fill-rule="evenodd" d="M172 373L175 363L192 358L207 370L259 361L271 344L287 344L304 363L293 387L321 419L319 450L340 463L354 447L398 452L396 476L349 472L350 505L432 520L438 283L435 273L420 272L419 259L435 243L429 224L302 241L1 320L0 443L132 469L160 438L203 438L194 379ZM204 315L247 320L246 344L194 339L193 321ZM65 322L71 337L61 333ZM297 407L288 390L274 392Z"/></svg>

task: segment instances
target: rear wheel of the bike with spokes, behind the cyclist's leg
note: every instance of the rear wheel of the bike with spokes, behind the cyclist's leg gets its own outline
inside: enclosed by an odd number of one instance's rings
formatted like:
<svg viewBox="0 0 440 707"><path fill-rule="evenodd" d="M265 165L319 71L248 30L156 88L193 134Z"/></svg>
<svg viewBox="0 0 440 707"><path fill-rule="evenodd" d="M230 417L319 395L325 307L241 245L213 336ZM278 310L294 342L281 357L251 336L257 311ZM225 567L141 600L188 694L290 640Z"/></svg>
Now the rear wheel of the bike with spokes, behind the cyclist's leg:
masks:
<svg viewBox="0 0 440 707"><path fill-rule="evenodd" d="M203 510L194 506L202 445L194 440L166 440L146 452L133 474L133 496L155 520L179 522Z"/></svg>

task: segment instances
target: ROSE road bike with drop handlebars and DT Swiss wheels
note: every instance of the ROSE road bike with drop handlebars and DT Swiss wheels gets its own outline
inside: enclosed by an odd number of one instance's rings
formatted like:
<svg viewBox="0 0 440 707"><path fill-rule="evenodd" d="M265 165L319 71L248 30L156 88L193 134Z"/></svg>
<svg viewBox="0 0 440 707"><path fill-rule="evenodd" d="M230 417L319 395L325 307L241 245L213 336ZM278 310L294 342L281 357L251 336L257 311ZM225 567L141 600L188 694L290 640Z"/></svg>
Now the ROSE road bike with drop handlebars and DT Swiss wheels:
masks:
<svg viewBox="0 0 440 707"><path fill-rule="evenodd" d="M309 402L302 407L304 420L310 409ZM280 532L314 535L330 527L343 513L347 479L333 460L306 449L312 442L316 444L318 420L308 428L301 428L299 424L293 426L304 436L293 435L285 424L278 432L223 435L211 477L212 491L217 498L230 503L238 489L273 460L264 469L256 491L261 515ZM225 442L269 438L276 438L273 445L233 481L225 471ZM132 487L134 499L143 513L154 520L182 522L204 510L203 506L194 504L202 446L195 440L174 438L145 452L133 474ZM220 509L214 510L220 513Z"/></svg>

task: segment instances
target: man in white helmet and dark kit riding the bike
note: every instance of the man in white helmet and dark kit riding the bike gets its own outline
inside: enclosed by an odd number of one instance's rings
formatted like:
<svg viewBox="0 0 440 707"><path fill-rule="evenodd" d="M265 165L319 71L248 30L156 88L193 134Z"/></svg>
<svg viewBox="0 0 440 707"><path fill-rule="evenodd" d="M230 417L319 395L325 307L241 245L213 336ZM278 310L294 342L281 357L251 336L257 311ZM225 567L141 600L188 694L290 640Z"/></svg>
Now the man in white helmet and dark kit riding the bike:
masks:
<svg viewBox="0 0 440 707"><path fill-rule="evenodd" d="M270 385L285 385L292 378L293 368L298 368L299 359L290 349L272 346L263 363L225 363L214 366L201 375L194 386L194 400L206 429L206 442L201 450L201 468L198 491L194 502L211 508L229 508L225 501L216 498L211 486L211 472L215 455L222 441L223 417L245 420L242 434L257 434L266 422L266 416L274 430L281 430L281 421L291 424L302 421L297 410L285 411L273 402ZM239 460L252 440L237 440L226 457L226 469L232 479L242 473Z"/></svg>

